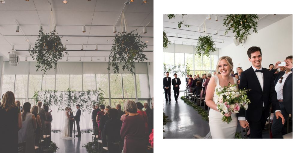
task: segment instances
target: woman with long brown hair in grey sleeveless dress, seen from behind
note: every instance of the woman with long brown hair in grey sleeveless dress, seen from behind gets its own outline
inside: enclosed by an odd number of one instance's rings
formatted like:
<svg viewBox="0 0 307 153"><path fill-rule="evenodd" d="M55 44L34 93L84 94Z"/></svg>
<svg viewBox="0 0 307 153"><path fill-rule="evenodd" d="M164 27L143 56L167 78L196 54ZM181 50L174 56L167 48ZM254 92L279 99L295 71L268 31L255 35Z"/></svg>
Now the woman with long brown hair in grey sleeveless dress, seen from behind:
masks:
<svg viewBox="0 0 307 153"><path fill-rule="evenodd" d="M18 143L26 142L25 152L34 152L34 129L38 126L35 116L30 113L31 104L26 102L23 104L23 112L21 113L22 128L18 131Z"/></svg>

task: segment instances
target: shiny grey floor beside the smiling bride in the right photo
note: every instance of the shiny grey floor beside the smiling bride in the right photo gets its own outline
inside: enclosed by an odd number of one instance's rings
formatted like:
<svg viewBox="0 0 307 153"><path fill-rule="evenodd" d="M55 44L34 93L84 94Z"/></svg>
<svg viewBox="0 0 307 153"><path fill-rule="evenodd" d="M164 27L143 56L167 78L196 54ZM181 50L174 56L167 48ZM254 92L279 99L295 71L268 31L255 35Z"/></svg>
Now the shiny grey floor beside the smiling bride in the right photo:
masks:
<svg viewBox="0 0 307 153"><path fill-rule="evenodd" d="M171 103L165 103L165 98L163 98L165 115L167 115L168 119L171 121L164 126L165 132L163 133L163 137L166 139L193 138L194 134L205 137L210 131L208 121L204 121L196 110L180 99L183 95L184 92L180 92L178 103L175 103L173 92L171 93ZM163 97L165 97L164 93ZM204 108L204 106L202 106L202 108ZM245 132L242 132L243 129L238 122L237 132L240 131L241 136L244 137ZM265 130L262 133L263 138L270 138L269 130Z"/></svg>

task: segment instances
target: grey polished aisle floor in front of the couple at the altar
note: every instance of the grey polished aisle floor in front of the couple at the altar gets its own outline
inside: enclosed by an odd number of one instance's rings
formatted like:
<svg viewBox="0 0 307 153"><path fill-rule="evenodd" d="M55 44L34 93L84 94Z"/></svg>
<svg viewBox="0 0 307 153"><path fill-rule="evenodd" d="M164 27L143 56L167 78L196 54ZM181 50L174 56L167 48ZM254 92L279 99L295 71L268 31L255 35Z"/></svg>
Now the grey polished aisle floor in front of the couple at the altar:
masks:
<svg viewBox="0 0 307 153"><path fill-rule="evenodd" d="M92 133L82 133L74 140L61 139L62 133L51 133L51 140L58 146L57 153L84 153L87 152L84 144L92 141Z"/></svg>

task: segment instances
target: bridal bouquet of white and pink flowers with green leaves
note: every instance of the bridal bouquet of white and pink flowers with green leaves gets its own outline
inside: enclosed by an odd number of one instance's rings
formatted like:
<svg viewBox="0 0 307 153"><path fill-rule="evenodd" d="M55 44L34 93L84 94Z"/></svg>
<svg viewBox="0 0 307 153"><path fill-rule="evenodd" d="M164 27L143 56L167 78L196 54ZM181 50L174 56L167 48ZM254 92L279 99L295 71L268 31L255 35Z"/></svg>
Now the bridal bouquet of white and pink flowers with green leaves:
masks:
<svg viewBox="0 0 307 153"><path fill-rule="evenodd" d="M216 108L222 115L228 112L239 113L240 109L247 110L248 104L251 103L246 95L248 90L239 90L235 86L229 83L228 86L216 89L216 95L219 96ZM227 124L232 122L231 116L223 116L222 120Z"/></svg>

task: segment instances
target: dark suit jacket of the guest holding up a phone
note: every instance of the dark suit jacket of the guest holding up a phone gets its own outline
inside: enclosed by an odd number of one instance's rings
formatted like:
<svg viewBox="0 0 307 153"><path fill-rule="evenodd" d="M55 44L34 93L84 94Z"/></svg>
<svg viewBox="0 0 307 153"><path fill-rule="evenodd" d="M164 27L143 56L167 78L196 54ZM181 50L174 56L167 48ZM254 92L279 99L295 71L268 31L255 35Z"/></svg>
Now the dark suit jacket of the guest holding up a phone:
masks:
<svg viewBox="0 0 307 153"><path fill-rule="evenodd" d="M277 69L272 69L271 72L275 73ZM293 73L293 69L291 69ZM282 88L282 99L285 104L285 108L288 114L292 114L292 73L289 74L285 81L284 86ZM275 80L274 80L274 85L278 83L278 80L285 74L285 71L281 71L277 74Z"/></svg>

